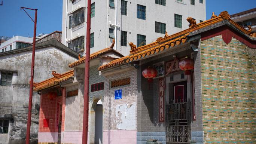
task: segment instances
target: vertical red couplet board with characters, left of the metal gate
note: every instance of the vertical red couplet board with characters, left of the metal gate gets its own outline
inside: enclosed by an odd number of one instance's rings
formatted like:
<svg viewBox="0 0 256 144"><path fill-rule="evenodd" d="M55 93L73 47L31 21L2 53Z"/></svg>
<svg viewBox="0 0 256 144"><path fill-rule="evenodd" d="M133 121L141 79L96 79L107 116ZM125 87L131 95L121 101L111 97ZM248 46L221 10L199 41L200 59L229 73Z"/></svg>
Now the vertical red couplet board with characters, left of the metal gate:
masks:
<svg viewBox="0 0 256 144"><path fill-rule="evenodd" d="M164 122L164 79L159 79L159 122Z"/></svg>

